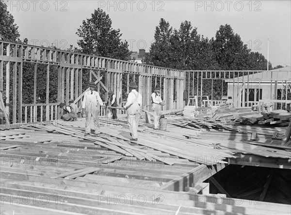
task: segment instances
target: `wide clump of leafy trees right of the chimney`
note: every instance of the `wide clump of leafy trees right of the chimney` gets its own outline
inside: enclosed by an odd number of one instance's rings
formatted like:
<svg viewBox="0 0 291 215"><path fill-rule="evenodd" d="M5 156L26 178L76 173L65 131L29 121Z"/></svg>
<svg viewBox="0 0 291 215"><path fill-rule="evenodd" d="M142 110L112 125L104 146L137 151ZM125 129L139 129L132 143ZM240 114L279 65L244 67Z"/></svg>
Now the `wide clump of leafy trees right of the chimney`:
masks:
<svg viewBox="0 0 291 215"><path fill-rule="evenodd" d="M267 60L252 52L230 25L221 25L215 38L204 38L184 21L178 30L163 18L144 62L181 70L267 70ZM269 70L272 64L269 62Z"/></svg>

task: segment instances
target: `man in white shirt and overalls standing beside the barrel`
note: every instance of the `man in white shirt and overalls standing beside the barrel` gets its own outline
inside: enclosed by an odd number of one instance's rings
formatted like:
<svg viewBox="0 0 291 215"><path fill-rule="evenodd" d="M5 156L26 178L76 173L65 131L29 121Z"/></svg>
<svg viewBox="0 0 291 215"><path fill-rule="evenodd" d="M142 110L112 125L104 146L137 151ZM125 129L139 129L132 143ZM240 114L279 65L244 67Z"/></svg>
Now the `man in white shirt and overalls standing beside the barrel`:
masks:
<svg viewBox="0 0 291 215"><path fill-rule="evenodd" d="M155 92L152 93L152 111L154 115L154 130L159 129L159 122L161 118L162 98L160 94L160 86L155 87Z"/></svg>

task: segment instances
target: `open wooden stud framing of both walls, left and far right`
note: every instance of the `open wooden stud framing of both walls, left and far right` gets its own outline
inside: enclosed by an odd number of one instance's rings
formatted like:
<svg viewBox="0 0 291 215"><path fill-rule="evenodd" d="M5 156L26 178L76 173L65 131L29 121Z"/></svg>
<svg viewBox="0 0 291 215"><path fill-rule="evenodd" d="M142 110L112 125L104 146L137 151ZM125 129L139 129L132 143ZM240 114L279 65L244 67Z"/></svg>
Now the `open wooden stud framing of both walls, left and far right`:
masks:
<svg viewBox="0 0 291 215"><path fill-rule="evenodd" d="M31 104L24 104L22 101L24 62L34 65L33 102ZM36 79L38 65L40 64L46 65L47 70L46 102L41 104L37 103L36 99ZM52 66L57 67L58 70L58 92L55 103L49 103L49 78ZM205 104L204 96L210 98L211 106L217 105L222 96L227 95L229 86L226 80L229 79L233 80L233 85L231 95L227 96L236 98L233 99L235 107L247 107L248 105L245 106L245 104L249 104L249 97L245 98L243 92L248 92L251 88L249 76L265 72L237 70L182 71L0 40L0 91L6 96L4 103L8 114L12 115L10 116L12 123L35 123L37 121L59 119L58 104L61 102L67 103L69 99L74 99L80 107L83 96L82 85L87 84L84 83L82 78L84 71L89 71L89 79L86 82L95 81L98 92L103 88L105 92L112 90L116 94L119 107L124 105L126 94L129 93L129 87L122 89L122 83L126 82L128 86L131 80L135 80L139 85L138 91L143 96L143 108L147 110L151 106L151 92L157 84L162 88L162 98L165 101L163 110L169 110L184 107L184 99L186 99L183 98L184 91L188 92L188 98L196 96L199 106ZM272 73L272 70L269 72ZM5 75L5 79L3 79L3 75ZM247 79L244 80L243 77L246 76ZM282 81L289 83L286 80ZM270 92L277 88L278 82L280 81L271 80ZM10 92L13 92L12 98L10 98ZM275 99L272 98L271 93L270 99ZM246 102L241 102L241 100ZM104 102L106 103L106 101L107 93L104 97ZM9 110L9 103L12 103L10 105L12 110ZM285 103L287 104L289 101L286 99ZM118 111L119 113L122 112L121 110ZM101 108L100 113L105 115L105 109Z"/></svg>

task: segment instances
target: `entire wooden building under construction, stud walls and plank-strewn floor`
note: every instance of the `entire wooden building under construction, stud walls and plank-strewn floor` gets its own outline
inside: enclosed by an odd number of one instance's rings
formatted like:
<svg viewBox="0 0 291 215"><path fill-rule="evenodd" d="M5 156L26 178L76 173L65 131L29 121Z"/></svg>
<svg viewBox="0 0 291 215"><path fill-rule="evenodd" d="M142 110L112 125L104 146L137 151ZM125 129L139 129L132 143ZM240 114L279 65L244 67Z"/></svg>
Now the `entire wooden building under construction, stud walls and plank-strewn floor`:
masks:
<svg viewBox="0 0 291 215"><path fill-rule="evenodd" d="M182 71L0 41L0 214L290 214L282 73ZM84 137L81 114L60 120L58 105L81 107L90 81L123 107L131 80L143 98L138 141L124 110L112 120L101 107L100 137Z"/></svg>

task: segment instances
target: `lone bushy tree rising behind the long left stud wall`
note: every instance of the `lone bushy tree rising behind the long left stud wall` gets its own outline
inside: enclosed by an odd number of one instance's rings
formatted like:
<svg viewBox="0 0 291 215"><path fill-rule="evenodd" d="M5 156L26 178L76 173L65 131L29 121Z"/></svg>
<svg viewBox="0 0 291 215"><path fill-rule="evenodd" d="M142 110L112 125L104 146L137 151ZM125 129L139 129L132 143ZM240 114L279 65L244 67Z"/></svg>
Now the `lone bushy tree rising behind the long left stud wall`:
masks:
<svg viewBox="0 0 291 215"><path fill-rule="evenodd" d="M83 20L76 34L82 39L77 43L85 54L129 60L128 42L122 42L120 30L114 30L109 15L102 9L94 10L91 18Z"/></svg>

